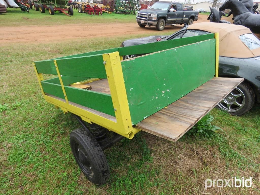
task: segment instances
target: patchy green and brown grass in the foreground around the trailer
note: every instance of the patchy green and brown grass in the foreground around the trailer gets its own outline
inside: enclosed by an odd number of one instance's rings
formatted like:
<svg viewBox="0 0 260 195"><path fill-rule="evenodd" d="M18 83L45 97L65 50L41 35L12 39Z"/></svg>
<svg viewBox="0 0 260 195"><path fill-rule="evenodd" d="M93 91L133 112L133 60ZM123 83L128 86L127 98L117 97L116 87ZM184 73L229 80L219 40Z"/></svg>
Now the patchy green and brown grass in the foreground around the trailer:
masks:
<svg viewBox="0 0 260 195"><path fill-rule="evenodd" d="M80 126L44 101L32 62L118 47L140 36L146 35L112 37L102 44L91 38L1 47L0 194L260 194L259 104L241 117L213 109L212 124L223 131L211 139L186 134L173 143L140 132L105 151L107 185L97 187L83 176L69 146L69 133ZM232 176L251 176L253 187L204 190L205 179Z"/></svg>

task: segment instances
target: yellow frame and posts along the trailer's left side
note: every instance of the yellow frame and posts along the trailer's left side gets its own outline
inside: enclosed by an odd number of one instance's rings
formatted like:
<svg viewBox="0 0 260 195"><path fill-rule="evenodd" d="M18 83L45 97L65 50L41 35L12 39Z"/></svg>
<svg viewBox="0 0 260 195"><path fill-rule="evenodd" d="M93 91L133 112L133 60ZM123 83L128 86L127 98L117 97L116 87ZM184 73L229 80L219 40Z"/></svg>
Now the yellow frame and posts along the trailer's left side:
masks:
<svg viewBox="0 0 260 195"><path fill-rule="evenodd" d="M119 52L116 51L114 53L103 54L103 60L105 64L104 66L106 69L111 98L115 110L116 122L103 116L100 116L96 113L92 113L88 110L74 106L68 101L62 78L60 75L59 66L56 60L54 60L54 64L61 83L62 91L65 97L65 102L64 100L62 101L61 99L51 97L44 93L41 84L41 81L43 81L43 76L41 73L37 72L35 64L34 69L39 85L41 87L41 92L43 94L44 99L47 102L52 103L57 107L60 107L61 110L63 110L63 112L65 113L71 112L80 116L82 120L88 123L96 123L128 139L132 139L134 135L138 133L140 130L133 127L131 122L131 116L126 96L126 89L123 80L123 72L120 62L122 60L122 56L119 56Z"/></svg>

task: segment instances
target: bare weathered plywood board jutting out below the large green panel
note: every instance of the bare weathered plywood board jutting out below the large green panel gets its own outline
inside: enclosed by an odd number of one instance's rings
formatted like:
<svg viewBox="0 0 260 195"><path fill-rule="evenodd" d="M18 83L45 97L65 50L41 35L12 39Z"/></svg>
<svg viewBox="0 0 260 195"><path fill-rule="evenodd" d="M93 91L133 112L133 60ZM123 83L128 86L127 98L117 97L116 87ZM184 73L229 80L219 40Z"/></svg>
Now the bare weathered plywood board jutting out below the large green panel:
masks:
<svg viewBox="0 0 260 195"><path fill-rule="evenodd" d="M243 80L214 77L142 120L135 127L170 141L177 141Z"/></svg>

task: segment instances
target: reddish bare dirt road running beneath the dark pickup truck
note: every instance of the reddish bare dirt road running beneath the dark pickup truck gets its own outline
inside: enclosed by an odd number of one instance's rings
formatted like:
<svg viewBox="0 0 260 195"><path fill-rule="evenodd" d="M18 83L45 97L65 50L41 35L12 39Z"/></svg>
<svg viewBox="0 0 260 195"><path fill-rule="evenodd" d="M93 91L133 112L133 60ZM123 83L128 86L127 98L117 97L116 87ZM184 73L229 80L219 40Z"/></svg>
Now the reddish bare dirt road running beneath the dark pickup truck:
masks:
<svg viewBox="0 0 260 195"><path fill-rule="evenodd" d="M199 15L196 22L208 22L207 15ZM194 22L194 23L196 23ZM183 25L166 26L161 34L169 34L181 29ZM68 31L69 29L69 31ZM136 23L122 24L110 23L103 25L68 24L53 26L19 26L1 27L0 46L7 43L48 43L59 42L64 39L93 38L93 37L116 37L134 34L149 34L156 31L155 27L140 28ZM158 32L158 31L157 31Z"/></svg>

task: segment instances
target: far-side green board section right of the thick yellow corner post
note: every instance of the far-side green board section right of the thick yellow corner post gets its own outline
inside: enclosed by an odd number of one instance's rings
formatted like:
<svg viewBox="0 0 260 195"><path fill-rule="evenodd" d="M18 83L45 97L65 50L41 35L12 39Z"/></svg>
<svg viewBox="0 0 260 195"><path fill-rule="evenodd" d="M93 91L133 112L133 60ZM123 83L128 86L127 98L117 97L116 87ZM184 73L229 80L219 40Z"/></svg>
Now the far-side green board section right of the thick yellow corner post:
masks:
<svg viewBox="0 0 260 195"><path fill-rule="evenodd" d="M141 44L135 46L120 47L119 54L120 56L131 55L131 54L144 54L144 53L148 54L157 51L162 51L165 49L180 47L191 43L197 43L200 41L213 39L214 36L215 34L206 34L206 35L178 38L173 40L159 41L159 42L147 43L147 44Z"/></svg>

